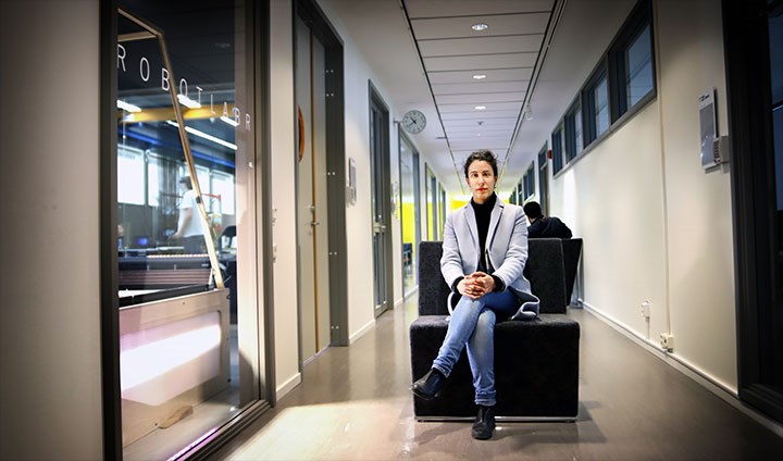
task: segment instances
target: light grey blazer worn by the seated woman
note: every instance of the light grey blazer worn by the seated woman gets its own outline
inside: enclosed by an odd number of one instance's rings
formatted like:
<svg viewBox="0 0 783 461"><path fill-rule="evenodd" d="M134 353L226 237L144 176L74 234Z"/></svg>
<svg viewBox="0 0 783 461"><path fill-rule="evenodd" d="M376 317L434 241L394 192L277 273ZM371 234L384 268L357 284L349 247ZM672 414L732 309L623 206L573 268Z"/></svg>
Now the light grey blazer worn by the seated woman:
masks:
<svg viewBox="0 0 783 461"><path fill-rule="evenodd" d="M537 313L538 298L531 292L530 281L522 273L527 261L527 217L522 207L504 203L500 198L495 201L485 245L486 253L482 256L475 212L470 202L449 213L440 258L440 272L448 286L458 277L475 272L478 258L488 258L487 267L495 267L493 275L520 298L521 304L535 304L527 309Z"/></svg>

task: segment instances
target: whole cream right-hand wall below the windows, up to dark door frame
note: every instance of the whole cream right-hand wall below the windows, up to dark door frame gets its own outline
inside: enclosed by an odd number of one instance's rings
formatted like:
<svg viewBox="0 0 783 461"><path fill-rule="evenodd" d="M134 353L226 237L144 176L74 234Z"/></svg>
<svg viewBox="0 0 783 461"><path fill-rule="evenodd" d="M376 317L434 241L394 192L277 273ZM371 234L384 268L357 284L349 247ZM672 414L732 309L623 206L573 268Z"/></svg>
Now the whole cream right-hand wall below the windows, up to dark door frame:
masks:
<svg viewBox="0 0 783 461"><path fill-rule="evenodd" d="M585 239L588 307L655 346L672 333L678 359L735 393L731 166L698 154L703 91L728 126L720 2L654 4L658 97L552 178L551 214Z"/></svg>

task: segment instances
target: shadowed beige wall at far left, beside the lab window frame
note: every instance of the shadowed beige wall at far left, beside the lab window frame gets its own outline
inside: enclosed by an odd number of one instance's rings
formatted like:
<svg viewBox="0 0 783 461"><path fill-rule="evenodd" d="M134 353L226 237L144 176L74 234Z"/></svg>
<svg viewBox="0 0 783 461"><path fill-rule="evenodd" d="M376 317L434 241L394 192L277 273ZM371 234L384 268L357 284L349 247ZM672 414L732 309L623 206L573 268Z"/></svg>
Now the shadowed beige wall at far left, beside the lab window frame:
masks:
<svg viewBox="0 0 783 461"><path fill-rule="evenodd" d="M2 459L103 454L98 3L0 2Z"/></svg>

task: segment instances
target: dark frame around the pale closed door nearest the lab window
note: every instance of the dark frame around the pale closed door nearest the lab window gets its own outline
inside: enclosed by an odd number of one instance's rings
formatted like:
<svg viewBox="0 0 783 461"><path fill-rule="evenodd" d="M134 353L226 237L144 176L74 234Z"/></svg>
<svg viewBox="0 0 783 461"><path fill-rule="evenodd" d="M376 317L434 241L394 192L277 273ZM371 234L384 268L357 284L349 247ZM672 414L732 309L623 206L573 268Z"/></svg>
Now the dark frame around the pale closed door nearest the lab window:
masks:
<svg viewBox="0 0 783 461"><path fill-rule="evenodd" d="M326 195L330 254L330 345L348 346L348 241L346 235L346 160L344 46L315 0L296 0L291 26L300 17L321 40L326 60ZM293 28L295 30L296 28ZM296 45L294 46L296 49ZM291 101L294 114L296 101ZM296 116L296 115L295 115ZM295 125L296 126L296 122ZM298 224L298 223L297 223ZM298 284L298 282L297 282ZM301 367L301 363L300 363Z"/></svg>

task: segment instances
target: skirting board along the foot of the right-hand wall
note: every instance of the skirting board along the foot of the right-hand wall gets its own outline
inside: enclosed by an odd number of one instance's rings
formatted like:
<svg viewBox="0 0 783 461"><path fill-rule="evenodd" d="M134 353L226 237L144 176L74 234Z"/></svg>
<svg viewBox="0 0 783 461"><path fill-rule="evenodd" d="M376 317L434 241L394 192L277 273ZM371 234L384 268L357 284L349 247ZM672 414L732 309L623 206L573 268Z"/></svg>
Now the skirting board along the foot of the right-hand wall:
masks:
<svg viewBox="0 0 783 461"><path fill-rule="evenodd" d="M663 363L672 366L674 370L679 371L680 373L695 381L703 387L707 388L720 399L739 410L746 416L753 419L757 423L772 431L779 437L783 437L783 425L745 406L739 400L735 391L732 391L728 387L721 385L720 383L712 379L689 363L685 362L683 359L680 359L675 354L669 353L663 349L656 347L654 344L647 341L646 339L637 336L634 332L616 322L613 319L605 315L602 312L600 312L598 309L594 308L589 303L582 302L582 307L586 312L588 312L596 319L600 320L601 322L614 328L617 332L621 333L623 336L642 346L645 350L647 350L655 357L661 359Z"/></svg>

